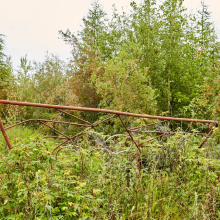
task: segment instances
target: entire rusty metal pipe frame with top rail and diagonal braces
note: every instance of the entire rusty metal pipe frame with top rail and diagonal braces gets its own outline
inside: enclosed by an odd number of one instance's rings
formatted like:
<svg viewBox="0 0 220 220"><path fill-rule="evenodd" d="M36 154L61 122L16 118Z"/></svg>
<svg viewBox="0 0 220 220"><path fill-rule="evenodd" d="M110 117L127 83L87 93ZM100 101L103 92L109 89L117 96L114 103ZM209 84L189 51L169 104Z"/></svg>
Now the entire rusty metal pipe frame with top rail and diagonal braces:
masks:
<svg viewBox="0 0 220 220"><path fill-rule="evenodd" d="M114 117L118 117L121 125L124 127L125 131L127 132L127 134L130 137L130 140L135 144L135 146L137 147L137 150L139 152L141 152L141 147L144 146L145 143L149 143L155 139L158 139L164 135L171 135L171 134L176 134L176 133L181 133L181 134L194 134L194 132L171 132L171 131L143 131L141 130L144 127L149 127L152 125L157 125L157 124L162 124L162 123L166 123L166 122L171 122L171 121L177 121L177 122L196 122L196 123L203 123L203 124L207 124L207 128L209 129L209 131L207 133L196 133L196 135L202 135L205 136L205 139L200 143L199 148L201 148L205 142L207 141L207 139L212 135L213 133L213 129L214 127L218 127L218 123L217 121L213 121L213 120L201 120L201 119L187 119L187 118L174 118L174 117L164 117L164 116L154 116L154 115L146 115L146 114L134 114L134 113L129 113L129 112L120 112L120 111L113 111L113 110L106 110L106 109L96 109L96 108L84 108L84 107L75 107L75 106L61 106L61 105L48 105L48 104L39 104L39 103L29 103L29 102L17 102L17 101L9 101L9 100L0 100L0 103L2 104L6 104L6 105L20 105L20 106L32 106L32 107L41 107L41 108L50 108L50 109L54 109L60 113L63 113L65 115L68 115L70 117L73 117L77 120L81 121L81 124L79 123L72 123L72 122L67 122L67 121L55 121L55 120L46 120L46 119L29 119L29 120L24 120L22 122L19 122L17 124L11 125L9 127L4 127L2 120L0 118L0 129L1 132L4 136L4 139L7 143L7 146L9 149L12 149L12 145L11 142L9 140L9 137L6 133L6 130L13 128L15 126L24 124L26 122L30 122L30 121L38 121L39 123L41 123L43 126L48 127L49 129L53 130L54 132L58 133L61 136L46 136L46 137L50 137L50 138L59 138L59 139L64 139L64 141L62 143L60 143L58 146L56 146L53 151L51 152L51 154L56 152L57 153L62 150L65 144L67 144L70 141L74 141L76 140L79 136L83 135L84 133L88 132L89 130L91 130L92 128L95 128L97 126L99 126L100 124L111 120ZM107 115L109 115L108 117L106 117L104 120L93 124L89 121L86 121L80 117L75 116L73 113L69 113L66 112L65 110L73 110L73 111L89 111L89 112L99 112L99 113L106 113ZM145 124L143 126L139 126L139 127L131 127L128 128L126 126L125 121L123 120L123 116L125 117L136 117L136 118L146 118L146 119L155 119L155 120L159 120L155 123L150 123L150 124ZM48 122L52 122L52 123L59 123L59 124L68 124L68 125L74 125L74 126L82 126L85 127L85 129L77 134L75 134L74 136L70 137L65 135L64 133L58 131L57 129L51 127L50 125L48 125ZM157 133L159 134L156 137L153 137L151 139L146 140L145 142L141 142L138 143L135 139L134 139L134 133ZM44 137L44 138L46 138Z"/></svg>

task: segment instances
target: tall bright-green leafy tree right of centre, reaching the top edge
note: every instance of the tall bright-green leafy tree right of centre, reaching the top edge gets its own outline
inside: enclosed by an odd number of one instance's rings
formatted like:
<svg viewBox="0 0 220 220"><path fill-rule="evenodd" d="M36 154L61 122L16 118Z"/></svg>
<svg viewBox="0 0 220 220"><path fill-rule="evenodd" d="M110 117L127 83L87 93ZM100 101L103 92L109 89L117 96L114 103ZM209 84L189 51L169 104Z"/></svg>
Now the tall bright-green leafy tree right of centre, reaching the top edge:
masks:
<svg viewBox="0 0 220 220"><path fill-rule="evenodd" d="M203 76L198 69L198 37L193 16L186 14L182 0L166 0L160 6L160 38L163 66L155 77L158 104L170 115L184 114L184 109L198 95ZM155 74L155 73L154 73ZM154 87L155 88L155 87Z"/></svg>

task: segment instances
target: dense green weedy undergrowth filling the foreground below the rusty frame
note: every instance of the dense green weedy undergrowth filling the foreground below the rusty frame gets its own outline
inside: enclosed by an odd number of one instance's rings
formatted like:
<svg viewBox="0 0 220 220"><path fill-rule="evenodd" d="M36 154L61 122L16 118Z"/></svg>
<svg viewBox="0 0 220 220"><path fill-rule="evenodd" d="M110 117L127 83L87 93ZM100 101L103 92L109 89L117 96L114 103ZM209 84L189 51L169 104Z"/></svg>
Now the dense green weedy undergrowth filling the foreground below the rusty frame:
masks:
<svg viewBox="0 0 220 220"><path fill-rule="evenodd" d="M141 154L124 136L104 147L86 136L57 158L54 142L20 133L10 134L12 150L1 137L0 219L220 218L217 133L202 149L176 135Z"/></svg>

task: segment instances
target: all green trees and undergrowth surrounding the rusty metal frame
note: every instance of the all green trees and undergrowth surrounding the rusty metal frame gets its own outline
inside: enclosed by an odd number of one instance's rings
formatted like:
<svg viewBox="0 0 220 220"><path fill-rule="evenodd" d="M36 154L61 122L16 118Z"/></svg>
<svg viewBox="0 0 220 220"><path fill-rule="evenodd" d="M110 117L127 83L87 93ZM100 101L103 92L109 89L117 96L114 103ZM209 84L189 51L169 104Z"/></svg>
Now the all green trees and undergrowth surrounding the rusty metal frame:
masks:
<svg viewBox="0 0 220 220"><path fill-rule="evenodd" d="M109 17L94 1L78 33L59 32L71 47L68 63L48 54L42 63L24 56L13 70L0 35L0 98L218 121L220 44L211 13L204 1L196 14L182 4L132 2L130 12L119 14L113 6ZM104 117L75 114L91 123ZM3 105L1 117L5 125L71 120L53 110ZM147 122L125 121L128 127ZM125 131L113 119L64 146L57 158L50 152L60 142L41 139L48 129L37 123L13 128L12 150L0 137L0 218L218 219L219 130L198 149L199 126L173 124L195 134L168 135L139 154L127 137L111 138Z"/></svg>

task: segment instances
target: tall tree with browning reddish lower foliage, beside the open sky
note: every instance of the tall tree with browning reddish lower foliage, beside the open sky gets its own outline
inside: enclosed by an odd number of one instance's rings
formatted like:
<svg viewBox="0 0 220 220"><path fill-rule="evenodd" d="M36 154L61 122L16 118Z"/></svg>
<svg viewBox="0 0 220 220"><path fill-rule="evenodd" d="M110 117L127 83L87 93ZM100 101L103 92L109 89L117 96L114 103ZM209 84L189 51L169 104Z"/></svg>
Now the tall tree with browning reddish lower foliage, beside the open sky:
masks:
<svg viewBox="0 0 220 220"><path fill-rule="evenodd" d="M83 29L78 35L69 30L60 31L64 41L72 47L73 60L71 84L73 93L79 98L83 106L98 107L100 97L97 95L91 75L96 66L97 56L107 56L107 46L104 40L106 13L98 1L92 3L92 9L83 18ZM104 58L103 58L104 59Z"/></svg>

